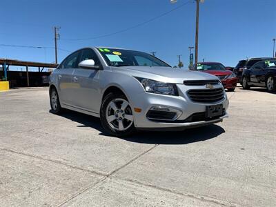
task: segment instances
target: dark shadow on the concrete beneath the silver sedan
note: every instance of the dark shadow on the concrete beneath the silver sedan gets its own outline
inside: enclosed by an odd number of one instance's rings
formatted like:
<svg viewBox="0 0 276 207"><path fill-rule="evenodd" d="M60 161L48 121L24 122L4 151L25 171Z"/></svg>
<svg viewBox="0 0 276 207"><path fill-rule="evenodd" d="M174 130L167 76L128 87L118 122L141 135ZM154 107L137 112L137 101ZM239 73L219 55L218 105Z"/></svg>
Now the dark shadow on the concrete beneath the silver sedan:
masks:
<svg viewBox="0 0 276 207"><path fill-rule="evenodd" d="M49 112L52 112L50 110ZM104 132L101 121L97 117L85 115L72 110L65 110L61 115L66 119L70 119L79 123L76 127L90 127L99 131L99 135L110 136ZM205 141L213 139L225 132L224 128L215 124L200 128L191 128L182 131L172 132L155 132L155 131L138 131L135 135L128 137L110 137L115 139L124 139L126 141L141 144L189 144L197 141Z"/></svg>

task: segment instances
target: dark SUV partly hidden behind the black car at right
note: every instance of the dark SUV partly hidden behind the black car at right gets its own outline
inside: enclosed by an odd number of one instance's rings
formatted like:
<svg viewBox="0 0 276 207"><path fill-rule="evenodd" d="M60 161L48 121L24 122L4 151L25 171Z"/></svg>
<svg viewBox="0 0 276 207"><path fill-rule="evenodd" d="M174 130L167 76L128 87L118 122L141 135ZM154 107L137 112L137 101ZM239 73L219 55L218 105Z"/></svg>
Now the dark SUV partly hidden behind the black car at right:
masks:
<svg viewBox="0 0 276 207"><path fill-rule="evenodd" d="M242 72L248 68L251 68L255 63L263 60L270 60L272 57L256 57L250 59L243 59L237 63L237 66L234 68L234 73L237 77L237 81L242 84Z"/></svg>

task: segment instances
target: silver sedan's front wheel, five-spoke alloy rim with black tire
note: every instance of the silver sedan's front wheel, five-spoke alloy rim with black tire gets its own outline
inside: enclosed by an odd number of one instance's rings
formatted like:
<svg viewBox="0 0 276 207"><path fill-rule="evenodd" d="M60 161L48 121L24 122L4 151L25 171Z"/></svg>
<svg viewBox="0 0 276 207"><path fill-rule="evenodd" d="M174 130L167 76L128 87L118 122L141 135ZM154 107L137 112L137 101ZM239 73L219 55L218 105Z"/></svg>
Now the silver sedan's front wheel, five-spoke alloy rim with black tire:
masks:
<svg viewBox="0 0 276 207"><path fill-rule="evenodd" d="M135 132L130 103L124 95L108 94L101 105L101 124L111 135L122 137Z"/></svg>

